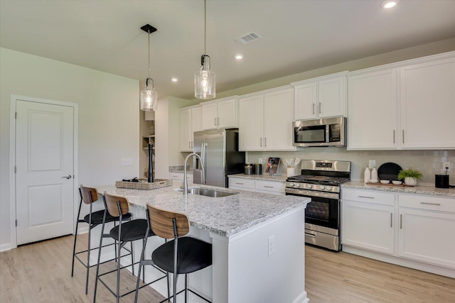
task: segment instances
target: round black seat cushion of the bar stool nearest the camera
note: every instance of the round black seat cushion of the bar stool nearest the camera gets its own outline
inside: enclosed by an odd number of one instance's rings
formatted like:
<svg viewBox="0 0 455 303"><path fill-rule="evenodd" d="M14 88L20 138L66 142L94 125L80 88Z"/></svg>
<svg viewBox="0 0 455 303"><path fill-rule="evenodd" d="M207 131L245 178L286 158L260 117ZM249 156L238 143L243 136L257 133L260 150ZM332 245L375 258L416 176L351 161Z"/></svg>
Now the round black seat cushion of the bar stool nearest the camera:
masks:
<svg viewBox="0 0 455 303"><path fill-rule="evenodd" d="M151 254L151 260L166 272L173 272L173 241L164 243ZM177 273L195 272L212 265L212 244L196 238L178 238Z"/></svg>

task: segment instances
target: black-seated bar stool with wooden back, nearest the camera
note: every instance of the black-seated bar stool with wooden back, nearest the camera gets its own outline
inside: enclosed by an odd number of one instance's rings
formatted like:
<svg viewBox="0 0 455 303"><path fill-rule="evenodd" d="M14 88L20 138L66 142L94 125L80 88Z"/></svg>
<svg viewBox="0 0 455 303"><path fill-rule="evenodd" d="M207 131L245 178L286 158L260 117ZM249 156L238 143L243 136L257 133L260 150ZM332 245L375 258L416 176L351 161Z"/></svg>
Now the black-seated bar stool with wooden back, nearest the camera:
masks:
<svg viewBox="0 0 455 303"><path fill-rule="evenodd" d="M177 294L185 292L185 302L187 292L196 294L206 302L210 302L200 294L188 289L188 273L196 272L212 265L212 244L200 241L196 238L185 237L190 231L190 221L186 214L180 214L173 211L159 209L156 206L147 204L147 220L150 228L157 236L165 239L173 239L156 248L151 254L150 260L144 260L144 248L141 253L140 265L154 264L165 270L173 272L173 302L176 303ZM139 270L141 266L139 265ZM179 274L185 274L185 289L177 292L177 278ZM136 297L134 302L137 303L137 294L139 292L139 275L136 285ZM169 285L168 285L169 287ZM168 297L162 302L171 299Z"/></svg>

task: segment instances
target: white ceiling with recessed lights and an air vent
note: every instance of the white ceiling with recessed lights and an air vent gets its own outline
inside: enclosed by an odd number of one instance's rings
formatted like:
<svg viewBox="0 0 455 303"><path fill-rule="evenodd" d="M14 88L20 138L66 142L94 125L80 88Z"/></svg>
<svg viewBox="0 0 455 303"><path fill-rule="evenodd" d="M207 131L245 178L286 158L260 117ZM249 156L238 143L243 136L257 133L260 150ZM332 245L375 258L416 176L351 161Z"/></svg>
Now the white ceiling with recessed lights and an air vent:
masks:
<svg viewBox="0 0 455 303"><path fill-rule="evenodd" d="M217 92L455 37L455 0L381 1L208 0ZM203 0L0 0L0 46L144 81L149 23L159 97L193 99L203 16ZM235 42L251 31L263 38Z"/></svg>

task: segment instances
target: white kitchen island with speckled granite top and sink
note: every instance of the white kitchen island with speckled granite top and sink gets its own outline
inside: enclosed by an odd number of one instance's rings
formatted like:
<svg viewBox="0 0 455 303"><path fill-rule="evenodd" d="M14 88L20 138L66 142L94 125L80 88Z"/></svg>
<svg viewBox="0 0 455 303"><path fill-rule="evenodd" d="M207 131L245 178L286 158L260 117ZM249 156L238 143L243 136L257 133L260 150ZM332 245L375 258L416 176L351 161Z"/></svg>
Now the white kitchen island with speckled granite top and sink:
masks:
<svg viewBox="0 0 455 303"><path fill-rule="evenodd" d="M213 266L191 274L189 285L213 302L308 302L304 211L310 199L203 187L235 194L215 198L188 194L185 198L176 186L153 190L96 188L100 193L127 197L134 218L145 217L146 204L187 214L190 236L213 244ZM149 243L147 258L163 241L152 237ZM135 260L139 260L141 243L136 245ZM147 273L146 280L154 277L152 270ZM166 282L160 282L153 287L165 295ZM203 301L190 295L189 302Z"/></svg>

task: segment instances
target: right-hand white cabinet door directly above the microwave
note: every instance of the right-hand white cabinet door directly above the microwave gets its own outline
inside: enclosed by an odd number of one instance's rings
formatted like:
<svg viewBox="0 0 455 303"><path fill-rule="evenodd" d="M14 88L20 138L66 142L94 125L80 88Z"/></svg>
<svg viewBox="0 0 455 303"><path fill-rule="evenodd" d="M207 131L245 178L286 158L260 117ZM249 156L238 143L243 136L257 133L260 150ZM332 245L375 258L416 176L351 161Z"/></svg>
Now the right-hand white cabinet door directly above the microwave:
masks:
<svg viewBox="0 0 455 303"><path fill-rule="evenodd" d="M320 118L346 116L346 77L321 80L318 83L318 106Z"/></svg>

